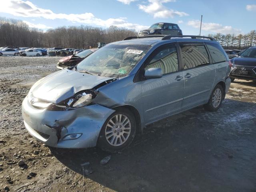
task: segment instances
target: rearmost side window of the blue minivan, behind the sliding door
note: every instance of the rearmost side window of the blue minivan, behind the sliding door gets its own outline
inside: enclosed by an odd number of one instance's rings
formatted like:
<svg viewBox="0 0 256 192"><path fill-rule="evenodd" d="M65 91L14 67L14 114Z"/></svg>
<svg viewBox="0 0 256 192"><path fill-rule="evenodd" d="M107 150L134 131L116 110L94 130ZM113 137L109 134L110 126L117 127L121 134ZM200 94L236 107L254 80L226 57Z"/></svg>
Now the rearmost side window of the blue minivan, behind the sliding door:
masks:
<svg viewBox="0 0 256 192"><path fill-rule="evenodd" d="M207 47L212 56L213 63L224 62L227 60L226 56L224 55L224 52L222 51L218 44L208 43Z"/></svg>

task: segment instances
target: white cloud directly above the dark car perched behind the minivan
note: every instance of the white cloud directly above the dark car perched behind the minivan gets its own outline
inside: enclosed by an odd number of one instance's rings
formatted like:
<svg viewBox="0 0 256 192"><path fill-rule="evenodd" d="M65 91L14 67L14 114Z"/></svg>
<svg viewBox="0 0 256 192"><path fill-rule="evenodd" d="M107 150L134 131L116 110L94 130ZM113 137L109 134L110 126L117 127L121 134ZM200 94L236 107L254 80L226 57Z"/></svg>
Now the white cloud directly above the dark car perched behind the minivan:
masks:
<svg viewBox="0 0 256 192"><path fill-rule="evenodd" d="M154 18L174 18L175 16L188 16L185 12L168 9L163 3L176 2L176 0L148 0L148 5L139 4L139 9L151 14Z"/></svg>

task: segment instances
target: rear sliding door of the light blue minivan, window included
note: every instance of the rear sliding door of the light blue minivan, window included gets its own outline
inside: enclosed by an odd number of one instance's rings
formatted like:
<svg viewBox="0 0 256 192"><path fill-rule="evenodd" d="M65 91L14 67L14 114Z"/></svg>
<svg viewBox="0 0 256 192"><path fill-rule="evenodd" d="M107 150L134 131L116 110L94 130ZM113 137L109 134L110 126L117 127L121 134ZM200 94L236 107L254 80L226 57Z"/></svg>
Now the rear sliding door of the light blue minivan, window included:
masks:
<svg viewBox="0 0 256 192"><path fill-rule="evenodd" d="M182 108L204 104L214 84L216 68L210 62L204 44L180 44L182 72L184 75L184 100Z"/></svg>

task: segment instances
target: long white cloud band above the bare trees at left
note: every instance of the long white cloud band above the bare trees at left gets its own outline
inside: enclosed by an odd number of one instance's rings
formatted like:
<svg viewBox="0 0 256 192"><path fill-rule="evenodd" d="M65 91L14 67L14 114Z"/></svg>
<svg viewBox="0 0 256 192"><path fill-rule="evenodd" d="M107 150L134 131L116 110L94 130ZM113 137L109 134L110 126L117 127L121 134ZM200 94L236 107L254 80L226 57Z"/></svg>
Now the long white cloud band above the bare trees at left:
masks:
<svg viewBox="0 0 256 192"><path fill-rule="evenodd" d="M39 8L30 1L22 0L0 0L0 12L12 14L19 17L32 17L32 18L46 18L46 19L66 19L74 23L91 24L102 27L109 27L115 25L118 27L124 27L135 30L142 30L148 28L148 26L142 26L139 24L133 24L127 22L127 18L109 18L102 20L95 17L92 13L83 14L64 14L54 13L52 10Z"/></svg>

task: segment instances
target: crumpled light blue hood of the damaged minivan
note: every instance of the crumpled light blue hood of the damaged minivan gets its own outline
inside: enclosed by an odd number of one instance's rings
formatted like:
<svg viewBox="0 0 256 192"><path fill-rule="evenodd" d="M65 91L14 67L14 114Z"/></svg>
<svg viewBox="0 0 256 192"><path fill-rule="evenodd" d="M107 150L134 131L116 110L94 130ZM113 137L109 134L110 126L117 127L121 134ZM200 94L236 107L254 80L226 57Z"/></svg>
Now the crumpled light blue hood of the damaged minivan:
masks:
<svg viewBox="0 0 256 192"><path fill-rule="evenodd" d="M68 69L52 73L40 79L30 89L33 97L52 103L59 103L79 91L92 89L113 78L90 75Z"/></svg>

